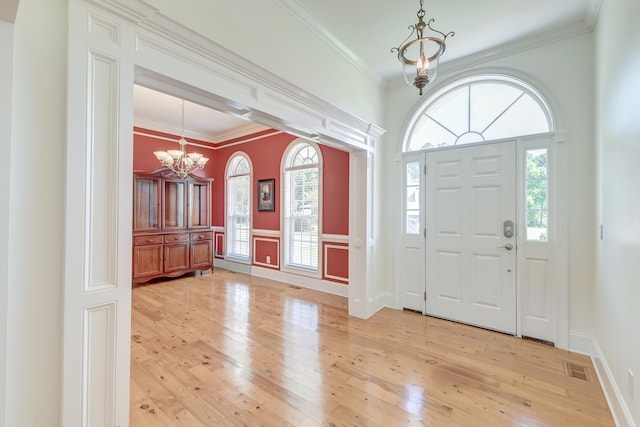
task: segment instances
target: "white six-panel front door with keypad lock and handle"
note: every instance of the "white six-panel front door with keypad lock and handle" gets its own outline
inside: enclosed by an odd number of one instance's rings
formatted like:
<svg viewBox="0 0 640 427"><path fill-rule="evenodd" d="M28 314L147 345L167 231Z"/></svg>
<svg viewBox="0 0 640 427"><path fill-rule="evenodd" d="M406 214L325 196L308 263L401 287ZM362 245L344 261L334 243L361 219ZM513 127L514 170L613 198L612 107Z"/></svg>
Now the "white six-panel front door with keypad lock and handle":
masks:
<svg viewBox="0 0 640 427"><path fill-rule="evenodd" d="M426 154L426 314L516 333L515 166L514 142Z"/></svg>

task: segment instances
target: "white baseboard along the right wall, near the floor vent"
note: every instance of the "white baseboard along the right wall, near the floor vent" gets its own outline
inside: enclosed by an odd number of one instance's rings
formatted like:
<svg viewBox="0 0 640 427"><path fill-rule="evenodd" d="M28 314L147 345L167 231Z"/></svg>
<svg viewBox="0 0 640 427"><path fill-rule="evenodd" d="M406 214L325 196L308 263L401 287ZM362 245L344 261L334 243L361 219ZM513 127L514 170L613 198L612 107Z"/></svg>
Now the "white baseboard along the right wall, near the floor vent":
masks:
<svg viewBox="0 0 640 427"><path fill-rule="evenodd" d="M604 393L607 403L609 404L609 410L613 416L613 420L617 427L637 427L631 411L624 400L620 387L616 383L615 377L607 364L607 360L598 345L598 341L593 338L592 346L594 348L594 354L591 356L591 361L598 375L600 386Z"/></svg>

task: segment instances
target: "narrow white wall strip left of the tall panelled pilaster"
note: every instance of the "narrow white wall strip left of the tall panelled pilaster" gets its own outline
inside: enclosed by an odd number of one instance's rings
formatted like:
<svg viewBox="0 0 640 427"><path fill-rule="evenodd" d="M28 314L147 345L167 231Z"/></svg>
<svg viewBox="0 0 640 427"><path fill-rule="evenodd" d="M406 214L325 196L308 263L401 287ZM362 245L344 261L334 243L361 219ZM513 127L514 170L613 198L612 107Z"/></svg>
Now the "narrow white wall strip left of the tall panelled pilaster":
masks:
<svg viewBox="0 0 640 427"><path fill-rule="evenodd" d="M7 426L60 417L66 11L22 0L14 29Z"/></svg>

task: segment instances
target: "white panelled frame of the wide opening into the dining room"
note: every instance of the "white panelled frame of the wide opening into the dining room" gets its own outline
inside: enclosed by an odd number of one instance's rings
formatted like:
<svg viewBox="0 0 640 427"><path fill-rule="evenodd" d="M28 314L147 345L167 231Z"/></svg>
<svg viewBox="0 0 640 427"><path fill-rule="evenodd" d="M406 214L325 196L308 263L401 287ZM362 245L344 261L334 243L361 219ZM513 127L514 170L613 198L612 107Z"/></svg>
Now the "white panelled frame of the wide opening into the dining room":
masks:
<svg viewBox="0 0 640 427"><path fill-rule="evenodd" d="M349 313L375 312L368 206L383 129L142 1L71 0L68 58L63 425L129 422L134 83L351 150Z"/></svg>

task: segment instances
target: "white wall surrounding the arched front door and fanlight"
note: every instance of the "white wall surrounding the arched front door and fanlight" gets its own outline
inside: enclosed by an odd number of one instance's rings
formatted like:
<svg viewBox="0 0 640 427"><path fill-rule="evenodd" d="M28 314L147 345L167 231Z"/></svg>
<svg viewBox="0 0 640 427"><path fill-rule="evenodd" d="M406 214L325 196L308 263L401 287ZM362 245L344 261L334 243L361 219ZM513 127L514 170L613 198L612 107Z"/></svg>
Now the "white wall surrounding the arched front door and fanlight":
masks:
<svg viewBox="0 0 640 427"><path fill-rule="evenodd" d="M569 144L569 332L589 336L593 332L592 297L594 222L593 157L593 48L592 35L585 34L554 44L521 51L471 67L462 64L443 66L429 91L452 80L481 71L506 72L523 78L538 88L554 108L558 128L568 133ZM570 54L569 54L570 53ZM454 68L455 67L455 68ZM464 71L456 71L463 69ZM399 206L398 176L394 173L394 154L398 153L407 118L428 96L420 97L414 88L399 86L387 92L387 116L384 136L385 178L393 185L386 197ZM397 210L397 209L396 209ZM397 213L399 214L399 212ZM396 215L396 220L400 218ZM388 224L389 228L393 223Z"/></svg>

